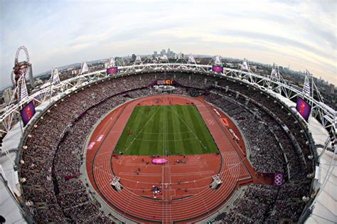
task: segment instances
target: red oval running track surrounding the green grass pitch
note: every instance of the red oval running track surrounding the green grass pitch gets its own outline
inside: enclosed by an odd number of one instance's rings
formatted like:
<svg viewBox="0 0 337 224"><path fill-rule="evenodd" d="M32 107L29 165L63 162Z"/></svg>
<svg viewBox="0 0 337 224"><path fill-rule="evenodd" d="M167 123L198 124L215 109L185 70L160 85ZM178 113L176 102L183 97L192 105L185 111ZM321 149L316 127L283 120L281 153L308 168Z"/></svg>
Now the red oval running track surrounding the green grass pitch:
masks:
<svg viewBox="0 0 337 224"><path fill-rule="evenodd" d="M117 159L112 156L114 146L136 105L184 103L196 105L220 150L220 156L217 157L218 160L220 159L220 163L214 162L217 161L214 154L200 155L203 156L201 161L205 161L207 167L209 166L208 173L205 173L205 169L196 170L196 166L200 164L193 166L193 163L196 163L196 156L188 156L187 166L174 165L173 161L176 161L176 157L166 157L169 159L169 163L161 166L161 175L159 175L158 169L150 168L146 168L146 175L142 175L146 165L139 163L141 159L149 159L149 157L119 156ZM90 137L90 142L95 142L95 145L92 149L87 150L86 166L92 186L109 206L131 220L142 223L172 223L173 221L202 220L221 208L240 186L249 183L270 183L269 179L257 176L256 171L247 160L245 144L243 144L235 124L228 119L230 128L240 137L240 142L235 142L228 127L225 127L220 121L220 118L225 117L225 114L220 110L217 110L218 113L216 113L213 109L215 108L202 98L183 95L153 95L133 100L118 107L100 122ZM100 142L97 142L97 139L100 139ZM213 161L209 159L211 156L214 157ZM141 175L129 174L127 165L131 164L132 166L132 161L141 167ZM192 173L196 171L200 174L193 178ZM220 179L223 181L217 190L209 188L214 171L218 171ZM188 174L190 172L191 175ZM110 186L114 174L121 178L121 183L124 186L122 191L114 191ZM183 184L180 183L181 189L187 188L188 191L178 191L177 188L180 186L176 183L178 180L176 176L183 182ZM149 193L149 186L152 183L158 185L158 180L162 180L160 184L163 193L156 198L159 200L155 200Z"/></svg>

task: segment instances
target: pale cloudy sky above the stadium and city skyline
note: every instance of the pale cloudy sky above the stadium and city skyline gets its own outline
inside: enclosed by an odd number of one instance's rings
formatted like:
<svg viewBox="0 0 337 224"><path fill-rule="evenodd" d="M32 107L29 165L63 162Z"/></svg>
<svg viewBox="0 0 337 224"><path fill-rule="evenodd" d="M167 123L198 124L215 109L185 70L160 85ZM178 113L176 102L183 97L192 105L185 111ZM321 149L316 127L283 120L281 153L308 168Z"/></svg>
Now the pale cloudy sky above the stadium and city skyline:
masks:
<svg viewBox="0 0 337 224"><path fill-rule="evenodd" d="M28 49L35 75L171 48L307 69L337 85L336 13L334 0L0 0L0 89L11 85L19 46Z"/></svg>

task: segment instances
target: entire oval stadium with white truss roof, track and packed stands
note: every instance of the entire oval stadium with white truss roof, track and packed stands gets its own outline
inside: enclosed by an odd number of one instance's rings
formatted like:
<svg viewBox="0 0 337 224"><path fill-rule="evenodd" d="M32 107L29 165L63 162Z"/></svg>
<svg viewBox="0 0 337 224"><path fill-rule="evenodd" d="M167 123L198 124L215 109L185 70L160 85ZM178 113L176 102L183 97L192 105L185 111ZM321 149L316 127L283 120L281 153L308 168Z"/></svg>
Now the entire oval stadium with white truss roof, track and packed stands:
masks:
<svg viewBox="0 0 337 224"><path fill-rule="evenodd" d="M122 60L82 63L62 81L54 68L30 94L29 61L15 67L1 112L13 213L27 223L317 222L336 179L336 111L309 73L302 89L247 60Z"/></svg>

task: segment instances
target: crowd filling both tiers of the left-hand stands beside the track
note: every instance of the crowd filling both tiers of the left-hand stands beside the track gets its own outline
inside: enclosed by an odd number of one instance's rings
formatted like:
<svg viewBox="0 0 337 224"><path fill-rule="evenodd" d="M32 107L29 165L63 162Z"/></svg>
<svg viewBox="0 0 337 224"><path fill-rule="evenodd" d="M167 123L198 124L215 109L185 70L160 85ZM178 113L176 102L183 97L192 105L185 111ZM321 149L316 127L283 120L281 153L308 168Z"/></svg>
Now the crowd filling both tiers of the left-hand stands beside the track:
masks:
<svg viewBox="0 0 337 224"><path fill-rule="evenodd" d="M33 203L29 209L34 220L82 222L107 218L94 205L82 182L68 178L80 176L85 138L102 115L125 102L122 95L116 94L127 89L125 80L136 83L135 79L123 78L119 84L105 80L77 90L49 108L31 128L27 149L21 156L20 176L25 180L24 198Z"/></svg>

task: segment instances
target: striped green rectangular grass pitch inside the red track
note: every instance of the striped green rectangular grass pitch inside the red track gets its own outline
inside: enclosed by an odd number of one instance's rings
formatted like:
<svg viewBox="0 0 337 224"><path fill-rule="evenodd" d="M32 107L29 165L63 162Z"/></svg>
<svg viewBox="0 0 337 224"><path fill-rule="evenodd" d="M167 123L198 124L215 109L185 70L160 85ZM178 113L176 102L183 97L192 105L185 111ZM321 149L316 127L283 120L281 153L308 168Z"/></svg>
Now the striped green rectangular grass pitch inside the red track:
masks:
<svg viewBox="0 0 337 224"><path fill-rule="evenodd" d="M193 155L215 153L218 147L195 106L137 106L114 151L143 156Z"/></svg>

